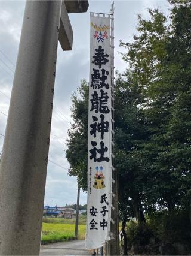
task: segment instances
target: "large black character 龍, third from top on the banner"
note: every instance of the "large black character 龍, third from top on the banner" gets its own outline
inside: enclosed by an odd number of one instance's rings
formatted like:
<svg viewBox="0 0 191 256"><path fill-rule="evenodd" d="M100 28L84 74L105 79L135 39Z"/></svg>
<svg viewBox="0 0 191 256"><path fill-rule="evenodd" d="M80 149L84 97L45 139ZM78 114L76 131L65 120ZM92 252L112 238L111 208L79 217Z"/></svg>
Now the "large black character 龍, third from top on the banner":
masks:
<svg viewBox="0 0 191 256"><path fill-rule="evenodd" d="M90 111L95 110L96 113L100 112L102 114L104 113L109 113L110 110L107 107L107 101L108 101L108 96L107 92L104 92L103 90L100 90L100 97L98 97L98 93L94 91L94 94L91 94L92 98L90 99L91 101L91 109Z"/></svg>

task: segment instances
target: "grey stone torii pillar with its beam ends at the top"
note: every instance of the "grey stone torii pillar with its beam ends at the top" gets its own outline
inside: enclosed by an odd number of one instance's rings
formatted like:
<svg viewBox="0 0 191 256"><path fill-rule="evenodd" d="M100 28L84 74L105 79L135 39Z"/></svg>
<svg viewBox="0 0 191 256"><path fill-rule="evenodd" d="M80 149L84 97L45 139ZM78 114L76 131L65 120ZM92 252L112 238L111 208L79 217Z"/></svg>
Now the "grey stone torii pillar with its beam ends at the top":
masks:
<svg viewBox="0 0 191 256"><path fill-rule="evenodd" d="M27 1L0 164L0 255L39 255L58 38L88 1Z"/></svg>

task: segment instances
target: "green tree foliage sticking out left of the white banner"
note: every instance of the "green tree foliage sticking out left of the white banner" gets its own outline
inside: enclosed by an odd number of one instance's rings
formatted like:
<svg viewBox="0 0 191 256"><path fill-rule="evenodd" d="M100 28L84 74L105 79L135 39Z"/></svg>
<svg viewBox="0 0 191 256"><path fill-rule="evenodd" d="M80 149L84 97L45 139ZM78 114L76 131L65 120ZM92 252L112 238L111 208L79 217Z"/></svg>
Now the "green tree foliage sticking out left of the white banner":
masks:
<svg viewBox="0 0 191 256"><path fill-rule="evenodd" d="M88 159L88 83L82 80L78 88L79 97L72 96L72 128L68 131L66 158L69 175L78 178L79 186L87 191Z"/></svg>

